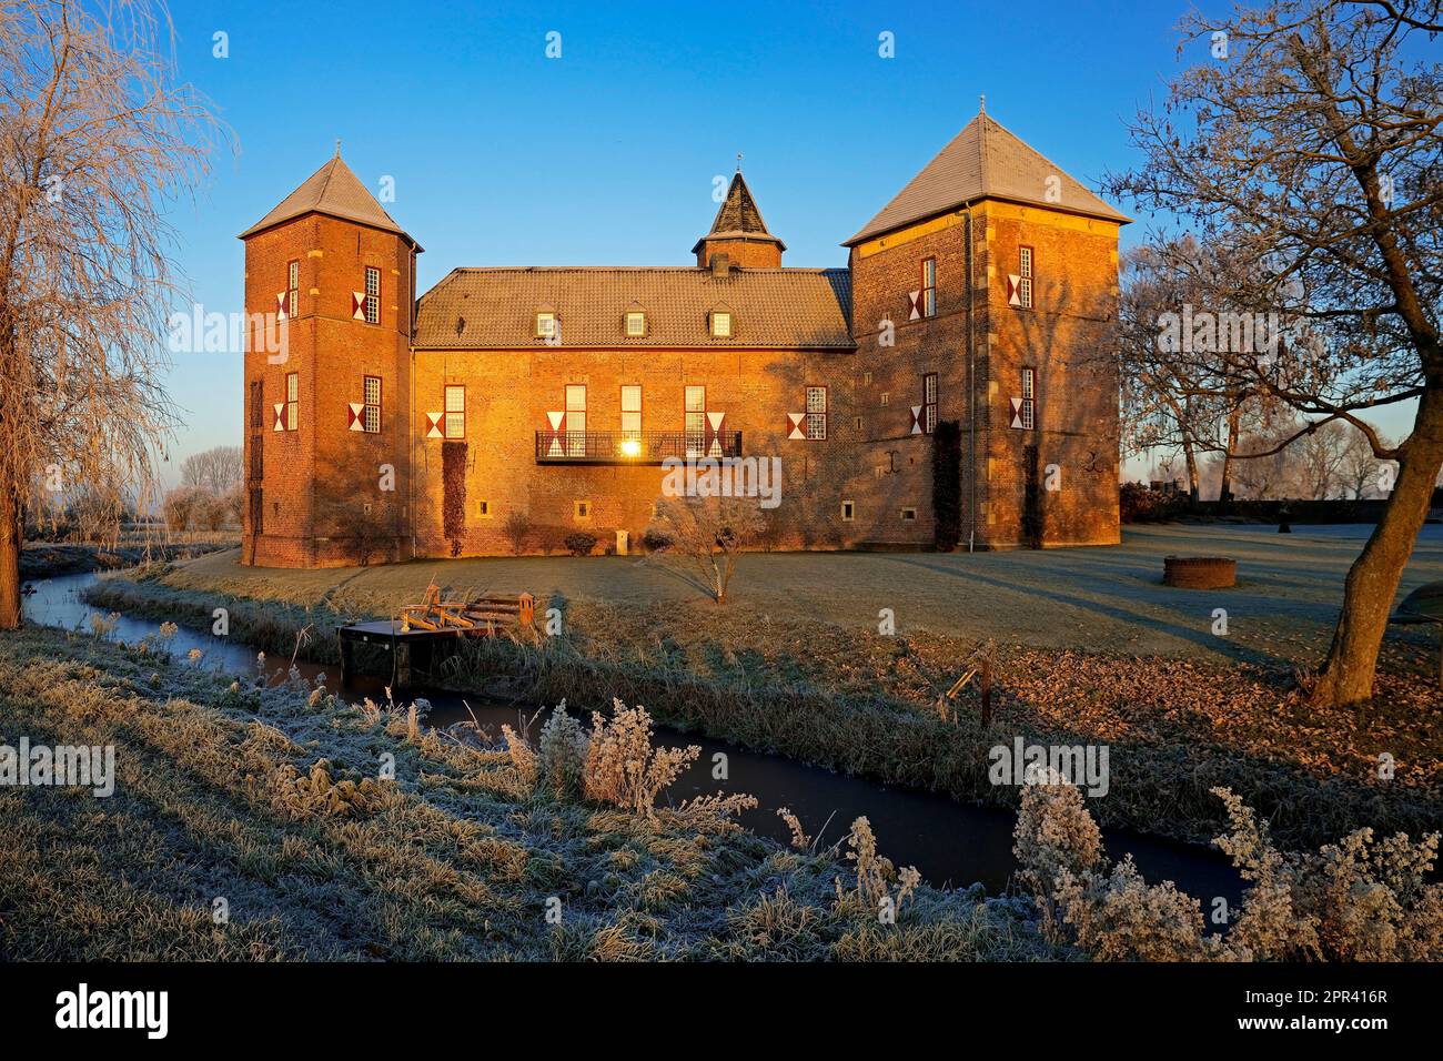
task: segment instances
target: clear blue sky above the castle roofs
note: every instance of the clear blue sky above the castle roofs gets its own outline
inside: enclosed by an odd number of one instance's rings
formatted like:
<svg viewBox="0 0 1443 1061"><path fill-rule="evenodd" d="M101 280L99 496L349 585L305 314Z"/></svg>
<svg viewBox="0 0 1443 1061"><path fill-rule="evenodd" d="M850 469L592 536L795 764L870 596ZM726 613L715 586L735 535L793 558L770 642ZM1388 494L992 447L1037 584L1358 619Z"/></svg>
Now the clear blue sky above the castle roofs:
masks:
<svg viewBox="0 0 1443 1061"><path fill-rule="evenodd" d="M980 92L1085 183L1133 163L1124 121L1176 71L1183 10L180 0L182 78L214 101L238 154L218 154L199 205L176 212L177 258L206 310L240 310L235 235L339 137L368 188L394 178L384 205L426 248L420 290L456 266L684 264L716 212L713 176L737 152L786 264L841 266L838 243L971 120ZM553 30L560 59L545 58ZM879 56L885 30L892 59ZM1139 217L1124 244L1146 228ZM177 456L238 445L240 357L172 357Z"/></svg>

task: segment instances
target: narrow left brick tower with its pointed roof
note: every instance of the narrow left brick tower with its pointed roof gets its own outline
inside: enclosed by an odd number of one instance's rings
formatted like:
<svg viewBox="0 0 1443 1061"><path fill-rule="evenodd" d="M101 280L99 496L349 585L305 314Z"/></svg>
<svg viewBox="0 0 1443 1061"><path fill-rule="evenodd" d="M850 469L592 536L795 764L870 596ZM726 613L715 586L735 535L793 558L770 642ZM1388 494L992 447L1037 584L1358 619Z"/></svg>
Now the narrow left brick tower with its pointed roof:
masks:
<svg viewBox="0 0 1443 1061"><path fill-rule="evenodd" d="M410 556L410 336L421 248L336 156L241 232L245 310L242 562ZM274 328L280 322L280 328Z"/></svg>

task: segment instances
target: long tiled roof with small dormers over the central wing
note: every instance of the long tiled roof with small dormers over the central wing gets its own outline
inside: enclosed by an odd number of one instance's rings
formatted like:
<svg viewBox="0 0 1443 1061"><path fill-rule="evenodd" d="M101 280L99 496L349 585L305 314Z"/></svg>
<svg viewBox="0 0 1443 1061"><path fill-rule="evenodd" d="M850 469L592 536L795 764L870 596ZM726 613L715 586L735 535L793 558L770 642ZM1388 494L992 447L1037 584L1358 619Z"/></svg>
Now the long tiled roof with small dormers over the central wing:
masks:
<svg viewBox="0 0 1443 1061"><path fill-rule="evenodd" d="M846 268L560 267L457 268L421 296L420 349L518 349L543 345L535 312L550 306L563 346L734 346L854 349ZM733 335L716 338L707 313L733 312ZM646 335L628 338L628 309L646 313Z"/></svg>

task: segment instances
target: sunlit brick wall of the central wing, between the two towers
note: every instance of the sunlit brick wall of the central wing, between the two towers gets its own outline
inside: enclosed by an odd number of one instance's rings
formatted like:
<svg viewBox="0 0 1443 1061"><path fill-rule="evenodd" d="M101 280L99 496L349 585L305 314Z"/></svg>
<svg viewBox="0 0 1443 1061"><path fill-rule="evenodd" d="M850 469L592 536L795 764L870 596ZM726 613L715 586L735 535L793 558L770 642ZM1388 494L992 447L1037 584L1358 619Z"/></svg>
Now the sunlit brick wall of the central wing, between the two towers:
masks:
<svg viewBox="0 0 1443 1061"><path fill-rule="evenodd" d="M589 531L615 544L631 533L635 544L661 495L658 465L538 463L535 432L547 413L566 407L567 384L587 388L587 430L620 430L620 387L642 387L642 430L681 432L685 387L707 388L707 409L726 413L726 432L742 432L745 456L782 459L776 541L784 546L840 547L841 482L853 460L850 352L759 349L616 351L527 348L517 351L417 351L416 423L443 410L443 387L466 385L466 520L460 554L509 553L506 517L522 512L534 525L527 551L561 549L561 538ZM788 440L786 413L802 411L808 385L828 387L827 440ZM447 556L443 534L440 439L417 432L417 551ZM478 502L489 512L481 515ZM576 515L586 501L590 514Z"/></svg>

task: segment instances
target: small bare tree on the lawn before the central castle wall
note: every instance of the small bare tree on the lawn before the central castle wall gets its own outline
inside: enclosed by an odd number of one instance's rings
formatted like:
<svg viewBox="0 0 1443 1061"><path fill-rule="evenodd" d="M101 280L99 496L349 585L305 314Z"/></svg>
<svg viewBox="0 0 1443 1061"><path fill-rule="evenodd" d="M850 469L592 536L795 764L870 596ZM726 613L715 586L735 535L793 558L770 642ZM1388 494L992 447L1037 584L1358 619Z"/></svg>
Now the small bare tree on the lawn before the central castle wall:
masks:
<svg viewBox="0 0 1443 1061"><path fill-rule="evenodd" d="M755 498L661 498L651 533L671 540L661 563L694 576L719 605L726 603L736 560L765 530Z"/></svg>

